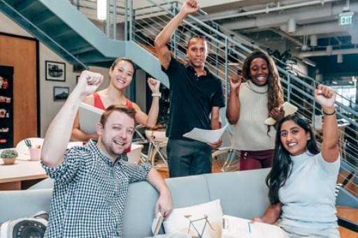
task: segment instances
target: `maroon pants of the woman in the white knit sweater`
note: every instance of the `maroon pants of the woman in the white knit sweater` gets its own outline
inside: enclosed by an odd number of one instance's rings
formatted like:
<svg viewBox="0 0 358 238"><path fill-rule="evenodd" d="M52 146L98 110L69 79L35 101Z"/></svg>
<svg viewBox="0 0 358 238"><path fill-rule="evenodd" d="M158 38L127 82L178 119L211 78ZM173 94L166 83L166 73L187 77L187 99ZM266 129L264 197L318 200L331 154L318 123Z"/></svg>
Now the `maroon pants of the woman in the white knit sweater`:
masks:
<svg viewBox="0 0 358 238"><path fill-rule="evenodd" d="M240 170L263 169L271 167L273 150L241 151Z"/></svg>

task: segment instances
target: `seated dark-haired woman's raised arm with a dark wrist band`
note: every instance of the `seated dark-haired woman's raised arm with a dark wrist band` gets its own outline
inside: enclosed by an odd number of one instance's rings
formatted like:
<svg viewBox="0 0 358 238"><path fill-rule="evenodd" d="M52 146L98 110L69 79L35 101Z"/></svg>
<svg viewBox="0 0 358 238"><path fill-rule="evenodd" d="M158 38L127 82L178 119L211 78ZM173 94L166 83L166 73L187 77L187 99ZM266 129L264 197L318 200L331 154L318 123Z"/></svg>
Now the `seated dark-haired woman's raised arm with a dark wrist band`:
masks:
<svg viewBox="0 0 358 238"><path fill-rule="evenodd" d="M338 149L338 125L336 113L334 111L334 102L336 102L336 91L331 88L318 85L315 90L315 99L322 107L323 120L322 125L322 157L327 162L334 162L339 157ZM333 115L326 115L332 114Z"/></svg>

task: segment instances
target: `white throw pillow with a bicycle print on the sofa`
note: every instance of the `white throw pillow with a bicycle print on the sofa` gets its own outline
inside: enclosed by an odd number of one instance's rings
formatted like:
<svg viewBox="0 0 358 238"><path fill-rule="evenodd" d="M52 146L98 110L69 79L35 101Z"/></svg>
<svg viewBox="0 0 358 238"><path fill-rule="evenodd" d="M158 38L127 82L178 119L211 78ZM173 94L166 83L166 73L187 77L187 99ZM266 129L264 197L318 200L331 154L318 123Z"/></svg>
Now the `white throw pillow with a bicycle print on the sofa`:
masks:
<svg viewBox="0 0 358 238"><path fill-rule="evenodd" d="M192 207L173 209L163 222L166 234L188 233L191 237L220 238L222 232L220 200Z"/></svg>

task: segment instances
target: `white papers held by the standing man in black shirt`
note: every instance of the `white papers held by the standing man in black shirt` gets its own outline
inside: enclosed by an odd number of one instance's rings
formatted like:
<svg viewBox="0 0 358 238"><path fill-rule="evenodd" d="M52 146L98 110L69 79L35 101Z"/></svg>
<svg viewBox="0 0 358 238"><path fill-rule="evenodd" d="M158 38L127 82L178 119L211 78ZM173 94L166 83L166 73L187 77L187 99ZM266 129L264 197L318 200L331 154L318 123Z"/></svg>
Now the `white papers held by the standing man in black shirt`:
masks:
<svg viewBox="0 0 358 238"><path fill-rule="evenodd" d="M229 123L227 123L227 125L225 125L224 127L222 127L219 130L203 130L203 129L199 129L199 128L194 128L191 132L187 132L187 133L183 134L182 136L190 138L190 139L194 139L196 141L202 141L205 143L213 143L220 139L220 137L224 133L225 129L227 129L228 125L229 125Z"/></svg>

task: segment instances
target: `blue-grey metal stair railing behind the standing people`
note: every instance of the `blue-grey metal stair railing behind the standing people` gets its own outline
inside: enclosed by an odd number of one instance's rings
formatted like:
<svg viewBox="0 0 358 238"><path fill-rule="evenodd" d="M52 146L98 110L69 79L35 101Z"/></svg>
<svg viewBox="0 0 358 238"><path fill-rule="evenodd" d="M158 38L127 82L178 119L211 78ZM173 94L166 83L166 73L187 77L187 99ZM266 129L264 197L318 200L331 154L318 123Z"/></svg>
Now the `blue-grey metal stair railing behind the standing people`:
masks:
<svg viewBox="0 0 358 238"><path fill-rule="evenodd" d="M146 0L145 3L147 6L141 8L134 8L132 0L124 0L122 3L124 8L116 6L115 1L113 1L112 5L108 3L111 6L111 8L108 8L108 13L112 13L113 17L108 18L106 28L103 27L103 29L110 36L109 27L111 19L112 22L117 22L120 19L124 22L124 39L134 41L155 54L155 50L153 50L155 36L178 13L181 3L178 3L178 1L168 2L162 0ZM196 15L203 14L205 13L199 12ZM188 38L192 34L206 36L209 49L206 66L222 79L225 98L227 99L229 76L236 74L241 69L243 60L252 50L260 48L258 45L253 45L250 40L239 36L234 31L224 29L215 22L201 22L201 20L195 18L196 15L189 15L182 22L182 25L173 34L169 47L174 57L186 61L185 50ZM113 38L115 38L116 25L114 24L112 27ZM313 127L315 127L315 115L321 114L321 109L315 102L313 90L319 83L313 78L304 76L304 73L299 70L292 69L292 65L286 64L276 57L273 58L276 64L280 64L278 71L282 87L284 87L285 91L285 100L298 106L299 113L308 118L312 122ZM343 95L337 95L337 97L348 100ZM338 118L350 124L345 127L344 132L341 132L343 136L340 137L339 141L340 145L344 145L341 148L345 149L344 153L342 153L344 155L343 160L357 171L358 123L354 118L358 118L358 112L355 108L357 108L355 104L352 104L351 108L341 102L336 102ZM322 136L317 133L317 138L321 139Z"/></svg>

